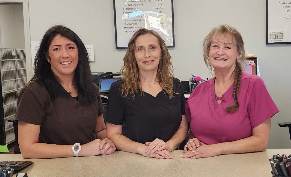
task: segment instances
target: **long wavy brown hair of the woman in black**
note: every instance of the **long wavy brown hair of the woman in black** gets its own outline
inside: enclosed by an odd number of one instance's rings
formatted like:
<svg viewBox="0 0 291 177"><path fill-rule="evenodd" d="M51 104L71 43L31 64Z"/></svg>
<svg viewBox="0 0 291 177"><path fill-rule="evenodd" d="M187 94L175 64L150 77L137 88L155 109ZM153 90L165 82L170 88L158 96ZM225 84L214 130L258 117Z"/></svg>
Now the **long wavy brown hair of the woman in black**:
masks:
<svg viewBox="0 0 291 177"><path fill-rule="evenodd" d="M140 79L139 79L139 70L138 64L135 59L135 41L141 35L151 34L158 38L159 46L161 48L161 58L158 65L157 79L159 85L163 88L163 91L170 99L173 98L173 66L171 62L171 55L168 51L168 47L165 44L165 41L160 37L160 35L148 29L139 29L133 34L132 38L128 42L128 49L123 58L124 65L120 69L120 72L124 77L122 78L124 82L121 85L121 93L124 97L132 96L134 98L138 90L141 91L141 95L144 95L144 92L141 88Z"/></svg>

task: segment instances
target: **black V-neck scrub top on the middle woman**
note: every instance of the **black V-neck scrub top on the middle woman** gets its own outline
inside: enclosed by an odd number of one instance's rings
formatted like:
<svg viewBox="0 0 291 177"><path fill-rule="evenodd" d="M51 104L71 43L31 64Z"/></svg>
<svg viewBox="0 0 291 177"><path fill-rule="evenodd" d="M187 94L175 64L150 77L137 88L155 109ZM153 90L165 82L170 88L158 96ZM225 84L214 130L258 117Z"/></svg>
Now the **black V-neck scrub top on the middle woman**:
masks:
<svg viewBox="0 0 291 177"><path fill-rule="evenodd" d="M146 143L159 138L167 142L181 124L185 114L185 97L181 82L173 78L173 98L161 92L153 97L144 92L132 96L121 95L123 80L114 82L109 90L106 121L114 125L125 123L126 137L130 140Z"/></svg>

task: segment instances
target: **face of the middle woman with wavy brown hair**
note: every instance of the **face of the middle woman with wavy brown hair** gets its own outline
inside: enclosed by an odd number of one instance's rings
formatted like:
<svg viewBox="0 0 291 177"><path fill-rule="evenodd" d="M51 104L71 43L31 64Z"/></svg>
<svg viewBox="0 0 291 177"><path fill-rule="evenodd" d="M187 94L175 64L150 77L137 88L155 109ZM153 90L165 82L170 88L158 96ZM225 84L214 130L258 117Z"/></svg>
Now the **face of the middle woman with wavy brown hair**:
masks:
<svg viewBox="0 0 291 177"><path fill-rule="evenodd" d="M152 34L141 35L135 40L135 59L139 72L157 72L162 56L158 38Z"/></svg>

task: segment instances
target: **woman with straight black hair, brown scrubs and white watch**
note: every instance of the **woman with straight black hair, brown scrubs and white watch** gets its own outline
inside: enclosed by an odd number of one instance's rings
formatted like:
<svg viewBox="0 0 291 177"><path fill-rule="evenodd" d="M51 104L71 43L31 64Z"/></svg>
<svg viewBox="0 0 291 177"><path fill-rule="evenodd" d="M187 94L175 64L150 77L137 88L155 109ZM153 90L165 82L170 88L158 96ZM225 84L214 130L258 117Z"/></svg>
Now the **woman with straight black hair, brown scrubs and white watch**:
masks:
<svg viewBox="0 0 291 177"><path fill-rule="evenodd" d="M53 26L42 38L35 75L17 101L18 140L23 158L107 155L103 105L93 84L87 50L76 33Z"/></svg>

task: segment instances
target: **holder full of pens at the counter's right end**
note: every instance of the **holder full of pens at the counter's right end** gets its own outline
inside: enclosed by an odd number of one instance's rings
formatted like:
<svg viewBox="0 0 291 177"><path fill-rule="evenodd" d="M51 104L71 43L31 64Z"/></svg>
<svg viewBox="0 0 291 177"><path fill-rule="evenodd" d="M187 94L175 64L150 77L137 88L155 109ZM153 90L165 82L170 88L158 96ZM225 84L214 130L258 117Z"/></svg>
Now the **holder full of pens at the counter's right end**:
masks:
<svg viewBox="0 0 291 177"><path fill-rule="evenodd" d="M285 154L282 156L280 154L273 155L273 158L269 159L269 161L273 177L291 176L291 155L288 157Z"/></svg>

